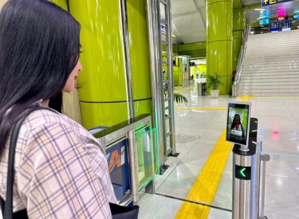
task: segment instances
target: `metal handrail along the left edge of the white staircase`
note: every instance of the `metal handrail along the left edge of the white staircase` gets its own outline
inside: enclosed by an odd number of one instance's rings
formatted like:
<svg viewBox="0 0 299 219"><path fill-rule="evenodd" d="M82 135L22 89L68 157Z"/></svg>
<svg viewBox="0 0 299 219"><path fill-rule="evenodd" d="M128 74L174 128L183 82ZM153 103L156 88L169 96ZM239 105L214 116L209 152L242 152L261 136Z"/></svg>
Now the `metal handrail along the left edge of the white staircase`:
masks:
<svg viewBox="0 0 299 219"><path fill-rule="evenodd" d="M236 68L236 76L234 77L234 84L232 86L232 96L233 97L237 97L238 94L239 94L239 83L241 81L241 69L242 69L242 66L243 66L243 59L244 59L244 56L245 56L245 50L247 48L248 35L250 34L250 24L246 25L243 34L244 34L243 45L242 45L242 49L240 51L238 65L237 65L237 68Z"/></svg>

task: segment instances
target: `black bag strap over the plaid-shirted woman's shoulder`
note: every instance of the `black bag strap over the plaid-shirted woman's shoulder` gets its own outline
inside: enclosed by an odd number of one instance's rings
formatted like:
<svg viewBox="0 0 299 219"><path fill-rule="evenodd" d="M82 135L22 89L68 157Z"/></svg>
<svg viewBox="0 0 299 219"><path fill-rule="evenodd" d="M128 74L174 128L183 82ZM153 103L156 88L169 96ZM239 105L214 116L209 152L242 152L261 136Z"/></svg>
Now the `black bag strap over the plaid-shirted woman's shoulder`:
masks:
<svg viewBox="0 0 299 219"><path fill-rule="evenodd" d="M15 180L15 146L17 145L17 137L19 135L19 129L22 126L22 123L26 119L26 117L32 113L33 111L46 109L49 111L54 111L54 109L45 107L45 106L34 106L30 108L28 111L22 115L19 120L14 124L13 131L10 137L10 145L8 152L8 174L7 174L7 184L6 184L6 202L4 204L4 216L3 219L13 219L13 183ZM1 200L1 205L3 205L3 200Z"/></svg>

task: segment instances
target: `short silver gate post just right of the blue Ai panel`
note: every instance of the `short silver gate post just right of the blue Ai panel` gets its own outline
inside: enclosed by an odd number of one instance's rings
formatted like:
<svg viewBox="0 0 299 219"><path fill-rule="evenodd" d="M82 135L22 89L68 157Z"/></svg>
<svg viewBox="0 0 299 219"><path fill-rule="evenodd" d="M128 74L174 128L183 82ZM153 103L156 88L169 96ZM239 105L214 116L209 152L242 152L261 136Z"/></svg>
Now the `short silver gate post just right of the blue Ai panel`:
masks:
<svg viewBox="0 0 299 219"><path fill-rule="evenodd" d="M135 143L135 131L131 130L127 133L129 146L129 163L131 169L131 195L133 202L138 202L138 154Z"/></svg>

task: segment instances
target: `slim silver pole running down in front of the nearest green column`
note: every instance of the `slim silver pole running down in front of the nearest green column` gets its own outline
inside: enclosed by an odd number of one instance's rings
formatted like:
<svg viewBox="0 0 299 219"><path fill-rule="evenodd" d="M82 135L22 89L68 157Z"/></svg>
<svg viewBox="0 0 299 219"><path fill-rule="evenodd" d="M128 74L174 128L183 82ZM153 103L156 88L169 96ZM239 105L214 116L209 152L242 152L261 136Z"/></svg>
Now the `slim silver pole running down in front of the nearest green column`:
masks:
<svg viewBox="0 0 299 219"><path fill-rule="evenodd" d="M129 93L129 113L130 117L134 117L134 99L133 99L133 86L131 75L131 59L129 48L129 31L128 31L128 19L127 19L127 0L120 0L120 6L122 8L122 31L124 38L124 54L126 59L126 72L127 72L127 91Z"/></svg>

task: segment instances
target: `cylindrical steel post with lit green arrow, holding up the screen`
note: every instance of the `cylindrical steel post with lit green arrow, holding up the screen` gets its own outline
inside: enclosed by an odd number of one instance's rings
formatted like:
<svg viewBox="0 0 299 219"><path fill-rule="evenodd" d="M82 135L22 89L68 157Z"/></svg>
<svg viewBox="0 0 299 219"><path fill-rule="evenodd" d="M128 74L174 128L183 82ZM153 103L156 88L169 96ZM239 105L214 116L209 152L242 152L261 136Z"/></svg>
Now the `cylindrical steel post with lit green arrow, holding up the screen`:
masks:
<svg viewBox="0 0 299 219"><path fill-rule="evenodd" d="M250 118L248 146L233 148L233 219L256 219L259 211L259 147L257 119Z"/></svg>

